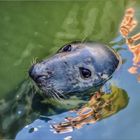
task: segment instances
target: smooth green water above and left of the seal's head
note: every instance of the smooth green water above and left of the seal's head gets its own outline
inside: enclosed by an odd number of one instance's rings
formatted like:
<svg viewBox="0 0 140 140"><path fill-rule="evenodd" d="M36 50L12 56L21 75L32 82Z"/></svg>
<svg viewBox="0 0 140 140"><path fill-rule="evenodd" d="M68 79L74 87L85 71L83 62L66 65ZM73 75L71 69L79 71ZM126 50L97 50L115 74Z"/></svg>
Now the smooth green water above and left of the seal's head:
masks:
<svg viewBox="0 0 140 140"><path fill-rule="evenodd" d="M127 0L0 2L0 98L39 60L75 40L109 43ZM116 6L117 5L117 6Z"/></svg>

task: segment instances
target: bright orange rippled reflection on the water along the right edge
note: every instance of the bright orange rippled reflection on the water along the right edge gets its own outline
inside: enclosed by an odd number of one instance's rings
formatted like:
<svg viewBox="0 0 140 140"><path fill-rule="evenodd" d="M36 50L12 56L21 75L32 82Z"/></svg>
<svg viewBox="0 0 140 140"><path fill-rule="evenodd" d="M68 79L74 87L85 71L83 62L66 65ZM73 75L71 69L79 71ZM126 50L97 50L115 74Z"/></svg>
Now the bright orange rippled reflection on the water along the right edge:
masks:
<svg viewBox="0 0 140 140"><path fill-rule="evenodd" d="M126 41L128 49L133 54L133 66L131 66L128 71L131 74L137 75L137 80L140 82L140 74L138 70L140 69L140 43L137 42L140 40L140 33L128 37L129 34L134 30L138 25L138 22L134 19L135 10L129 8L126 10L122 23L120 25L120 33Z"/></svg>

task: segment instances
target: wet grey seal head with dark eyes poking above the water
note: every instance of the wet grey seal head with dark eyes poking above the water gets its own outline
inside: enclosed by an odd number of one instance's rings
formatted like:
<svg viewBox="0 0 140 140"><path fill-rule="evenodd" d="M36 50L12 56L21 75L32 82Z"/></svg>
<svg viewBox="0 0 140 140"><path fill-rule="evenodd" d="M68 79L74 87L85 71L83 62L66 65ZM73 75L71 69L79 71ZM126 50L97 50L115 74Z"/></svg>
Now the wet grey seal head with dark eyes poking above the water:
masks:
<svg viewBox="0 0 140 140"><path fill-rule="evenodd" d="M119 64L118 54L106 45L77 42L34 64L29 75L47 95L78 94L99 89Z"/></svg>

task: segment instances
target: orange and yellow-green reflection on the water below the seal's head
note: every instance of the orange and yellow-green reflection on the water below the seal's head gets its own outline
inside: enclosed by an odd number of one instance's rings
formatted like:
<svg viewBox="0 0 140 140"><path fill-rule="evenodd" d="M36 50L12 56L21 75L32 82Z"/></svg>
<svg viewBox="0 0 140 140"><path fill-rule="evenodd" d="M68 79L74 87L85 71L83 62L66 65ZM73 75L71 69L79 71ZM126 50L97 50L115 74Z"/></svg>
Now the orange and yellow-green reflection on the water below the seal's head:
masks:
<svg viewBox="0 0 140 140"><path fill-rule="evenodd" d="M115 86L111 87L111 93L95 92L90 101L81 107L76 117L67 116L65 121L53 124L54 133L68 133L74 129L80 129L84 125L93 124L99 120L109 117L128 104L127 93ZM54 120L53 120L54 121Z"/></svg>

